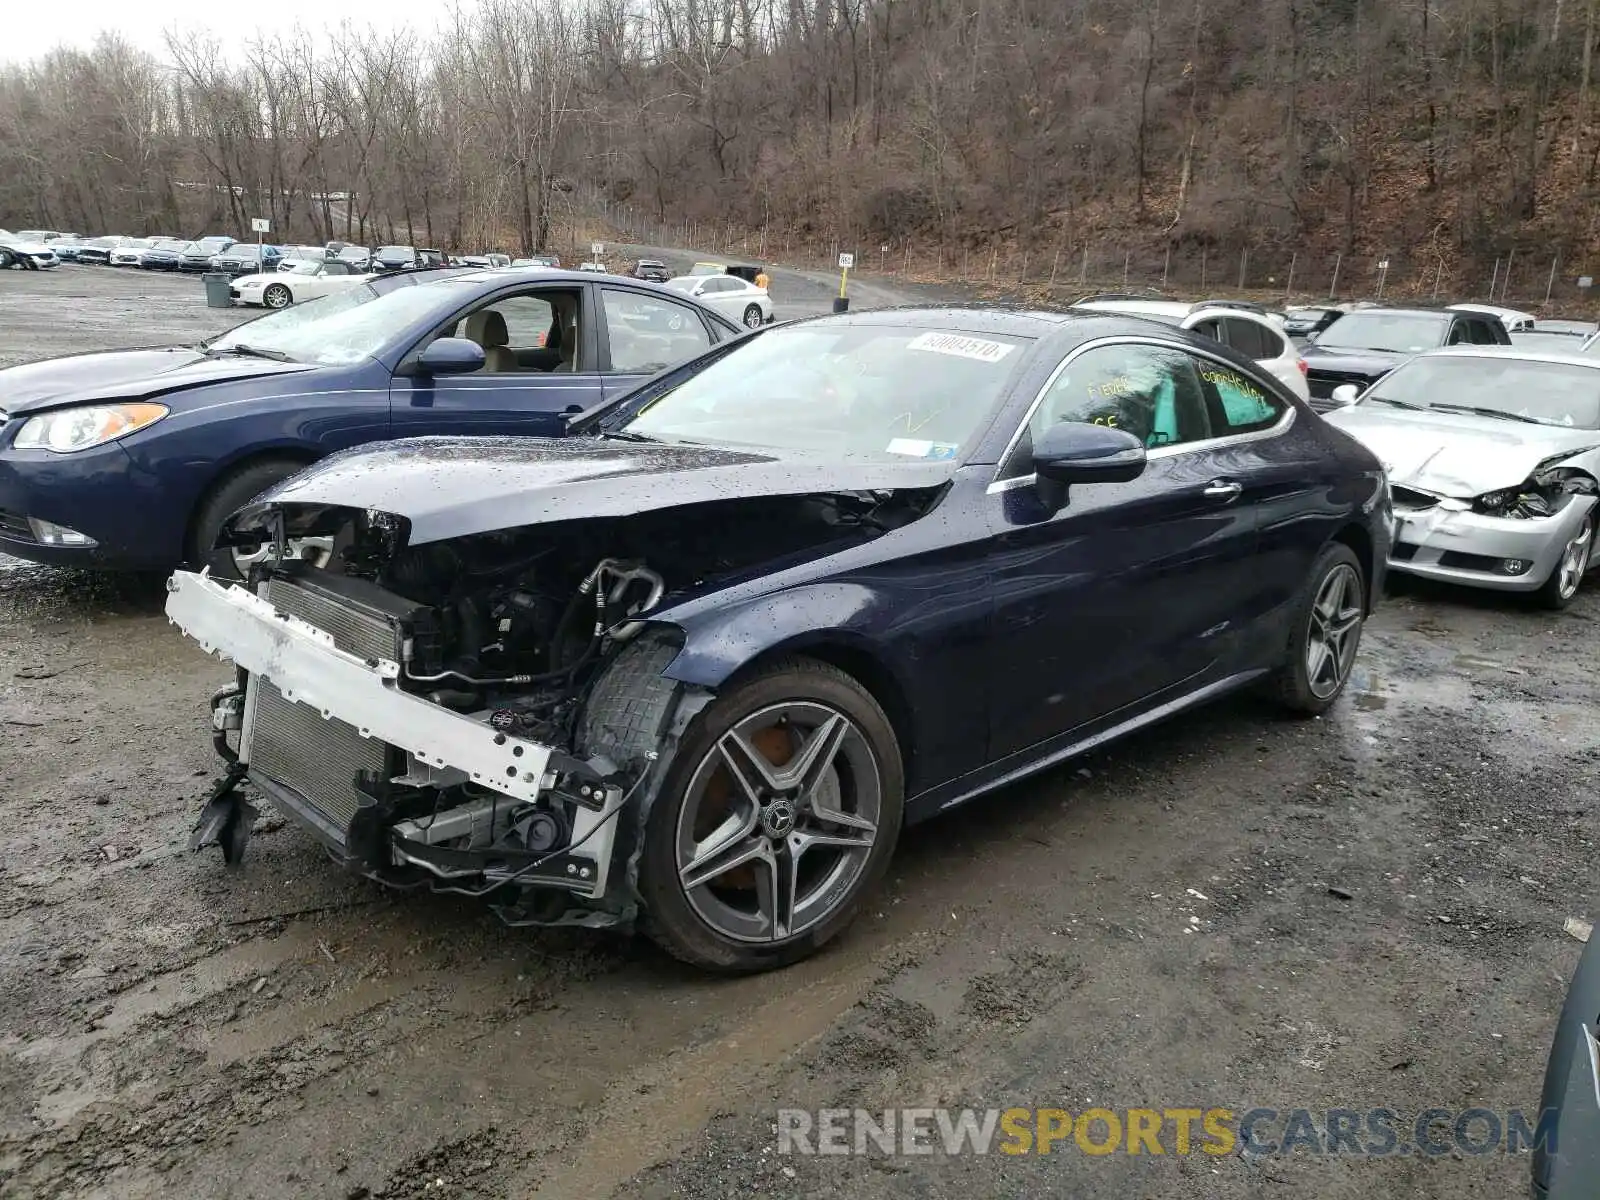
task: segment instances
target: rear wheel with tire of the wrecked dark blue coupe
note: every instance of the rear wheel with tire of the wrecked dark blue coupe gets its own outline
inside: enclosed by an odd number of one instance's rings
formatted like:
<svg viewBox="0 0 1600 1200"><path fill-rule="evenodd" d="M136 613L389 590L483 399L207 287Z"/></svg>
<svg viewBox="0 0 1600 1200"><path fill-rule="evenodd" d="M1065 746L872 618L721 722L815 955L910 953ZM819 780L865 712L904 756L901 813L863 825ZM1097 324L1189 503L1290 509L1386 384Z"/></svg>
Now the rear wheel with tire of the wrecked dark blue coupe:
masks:
<svg viewBox="0 0 1600 1200"><path fill-rule="evenodd" d="M1294 606L1288 658L1270 680L1286 710L1318 717L1350 682L1366 622L1366 573L1344 542L1330 542L1312 563Z"/></svg>

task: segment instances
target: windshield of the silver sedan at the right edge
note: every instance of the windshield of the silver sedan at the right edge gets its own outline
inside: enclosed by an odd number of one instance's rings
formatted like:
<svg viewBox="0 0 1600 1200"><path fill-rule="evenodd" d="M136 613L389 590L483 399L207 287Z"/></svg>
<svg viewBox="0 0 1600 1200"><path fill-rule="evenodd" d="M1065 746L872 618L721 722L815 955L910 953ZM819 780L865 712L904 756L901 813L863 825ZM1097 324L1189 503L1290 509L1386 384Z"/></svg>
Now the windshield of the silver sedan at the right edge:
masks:
<svg viewBox="0 0 1600 1200"><path fill-rule="evenodd" d="M1520 421L1600 429L1600 368L1491 354L1413 358L1360 398L1360 406L1440 411L1482 408Z"/></svg>

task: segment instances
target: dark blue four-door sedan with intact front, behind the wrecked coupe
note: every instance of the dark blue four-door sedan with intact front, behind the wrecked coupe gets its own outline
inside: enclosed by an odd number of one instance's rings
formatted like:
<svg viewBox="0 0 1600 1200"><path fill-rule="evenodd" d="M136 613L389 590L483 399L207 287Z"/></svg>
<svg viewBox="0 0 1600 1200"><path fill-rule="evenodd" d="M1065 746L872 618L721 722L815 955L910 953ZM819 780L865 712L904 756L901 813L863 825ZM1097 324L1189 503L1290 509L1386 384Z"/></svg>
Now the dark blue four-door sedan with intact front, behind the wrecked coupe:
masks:
<svg viewBox="0 0 1600 1200"><path fill-rule="evenodd" d="M194 347L13 366L0 371L0 552L237 574L238 555L211 554L222 518L325 454L418 434L555 435L570 413L738 333L621 278L402 272Z"/></svg>

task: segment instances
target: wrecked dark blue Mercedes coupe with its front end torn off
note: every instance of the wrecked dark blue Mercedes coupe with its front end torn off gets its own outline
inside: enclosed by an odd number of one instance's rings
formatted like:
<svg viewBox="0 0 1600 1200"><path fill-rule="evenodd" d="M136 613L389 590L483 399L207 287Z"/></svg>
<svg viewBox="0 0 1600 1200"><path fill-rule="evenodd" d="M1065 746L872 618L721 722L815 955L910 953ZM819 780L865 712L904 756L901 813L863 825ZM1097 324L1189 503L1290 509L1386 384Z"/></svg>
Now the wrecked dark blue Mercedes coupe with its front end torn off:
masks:
<svg viewBox="0 0 1600 1200"><path fill-rule="evenodd" d="M1318 714L1384 472L1216 341L880 310L750 333L560 438L346 451L246 504L227 773L347 864L715 970L840 931L906 821L1251 683ZM251 792L234 790L248 781Z"/></svg>

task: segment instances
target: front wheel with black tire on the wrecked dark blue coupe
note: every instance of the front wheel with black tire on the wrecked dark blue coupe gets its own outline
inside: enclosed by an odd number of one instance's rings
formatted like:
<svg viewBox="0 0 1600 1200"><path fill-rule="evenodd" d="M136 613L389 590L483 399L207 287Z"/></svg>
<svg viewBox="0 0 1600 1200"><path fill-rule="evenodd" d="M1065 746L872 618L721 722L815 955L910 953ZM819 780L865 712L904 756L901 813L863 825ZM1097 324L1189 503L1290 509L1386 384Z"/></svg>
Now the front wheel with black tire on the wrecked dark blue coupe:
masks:
<svg viewBox="0 0 1600 1200"><path fill-rule="evenodd" d="M630 670L621 658L619 667ZM618 714L651 707L632 694L645 674L616 694L597 685L586 714L597 736L586 741L614 742ZM645 933L675 958L723 973L814 954L888 869L904 792L888 717L845 672L787 658L734 682L690 723L645 819Z"/></svg>

